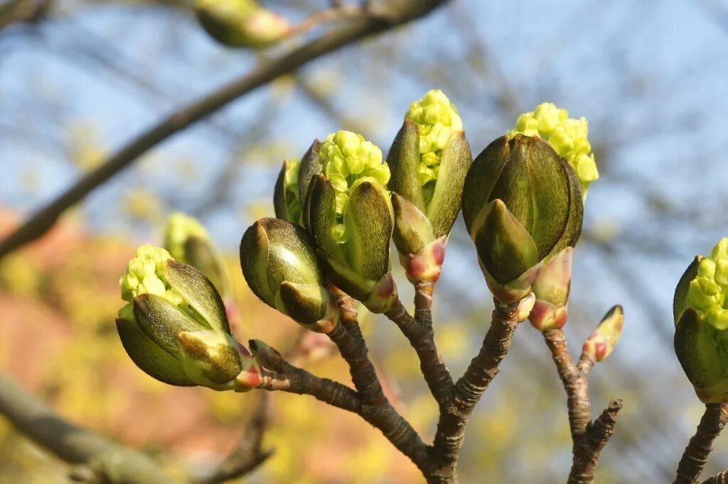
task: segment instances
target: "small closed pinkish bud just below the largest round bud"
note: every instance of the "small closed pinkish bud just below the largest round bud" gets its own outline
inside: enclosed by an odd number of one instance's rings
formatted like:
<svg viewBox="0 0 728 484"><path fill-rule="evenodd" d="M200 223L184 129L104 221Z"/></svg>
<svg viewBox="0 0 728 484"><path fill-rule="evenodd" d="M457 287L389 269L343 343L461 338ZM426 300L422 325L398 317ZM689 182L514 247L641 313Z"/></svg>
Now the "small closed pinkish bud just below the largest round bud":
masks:
<svg viewBox="0 0 728 484"><path fill-rule="evenodd" d="M551 257L531 286L536 302L529 320L539 331L562 328L566 324L573 252L574 249L566 247Z"/></svg>

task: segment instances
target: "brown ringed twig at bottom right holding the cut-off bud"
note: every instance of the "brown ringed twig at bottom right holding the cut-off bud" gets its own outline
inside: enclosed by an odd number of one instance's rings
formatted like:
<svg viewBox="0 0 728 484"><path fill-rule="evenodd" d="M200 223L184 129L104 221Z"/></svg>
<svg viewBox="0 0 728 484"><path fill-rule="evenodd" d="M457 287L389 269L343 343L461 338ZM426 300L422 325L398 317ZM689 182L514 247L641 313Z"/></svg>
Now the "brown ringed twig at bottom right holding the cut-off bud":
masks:
<svg viewBox="0 0 728 484"><path fill-rule="evenodd" d="M708 462L708 455L713 450L713 440L716 440L726 422L728 422L728 403L705 405L705 414L697 425L695 435L685 448L673 484L691 484L697 481Z"/></svg>

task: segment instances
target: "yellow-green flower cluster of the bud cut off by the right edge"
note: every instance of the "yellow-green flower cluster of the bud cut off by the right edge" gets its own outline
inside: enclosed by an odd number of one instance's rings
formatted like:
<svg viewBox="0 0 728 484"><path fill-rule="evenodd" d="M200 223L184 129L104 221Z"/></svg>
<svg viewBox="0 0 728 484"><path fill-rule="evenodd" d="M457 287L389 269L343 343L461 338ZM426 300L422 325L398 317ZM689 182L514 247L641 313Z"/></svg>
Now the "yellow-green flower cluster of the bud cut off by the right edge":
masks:
<svg viewBox="0 0 728 484"><path fill-rule="evenodd" d="M713 247L711 257L697 265L690 281L687 303L700 312L713 327L728 329L728 238Z"/></svg>

